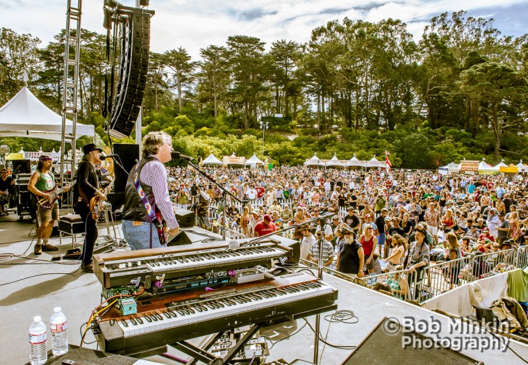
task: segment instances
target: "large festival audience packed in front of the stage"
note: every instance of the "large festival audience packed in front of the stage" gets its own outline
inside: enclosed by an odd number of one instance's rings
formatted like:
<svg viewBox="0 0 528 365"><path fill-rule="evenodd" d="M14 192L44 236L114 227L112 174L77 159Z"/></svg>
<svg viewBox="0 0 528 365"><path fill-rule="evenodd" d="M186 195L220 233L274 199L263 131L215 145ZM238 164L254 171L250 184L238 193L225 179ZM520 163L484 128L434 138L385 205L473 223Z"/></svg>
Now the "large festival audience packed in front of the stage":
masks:
<svg viewBox="0 0 528 365"><path fill-rule="evenodd" d="M297 225L302 259L352 276L420 272L438 252L455 260L525 245L528 179L522 176L288 166L204 170L245 204L226 195L224 205L222 189L191 168L168 168L174 204L196 209L205 196L209 215L226 209L229 221L215 214L217 220L245 237ZM334 216L317 220L327 212ZM314 221L304 225L308 220ZM204 227L214 229L211 222ZM393 289L399 295L402 280Z"/></svg>

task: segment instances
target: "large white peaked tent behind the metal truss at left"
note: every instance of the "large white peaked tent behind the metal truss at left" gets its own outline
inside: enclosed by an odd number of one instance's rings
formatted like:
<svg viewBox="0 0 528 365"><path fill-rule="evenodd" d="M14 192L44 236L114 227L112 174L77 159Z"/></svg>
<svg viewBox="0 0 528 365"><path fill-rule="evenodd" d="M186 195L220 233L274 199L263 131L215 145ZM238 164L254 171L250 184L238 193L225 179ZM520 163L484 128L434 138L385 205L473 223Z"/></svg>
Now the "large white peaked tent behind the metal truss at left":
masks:
<svg viewBox="0 0 528 365"><path fill-rule="evenodd" d="M67 120L65 133L72 133L73 122ZM0 136L60 140L63 117L42 104L24 87L0 108ZM77 123L76 138L95 135L92 125Z"/></svg>

